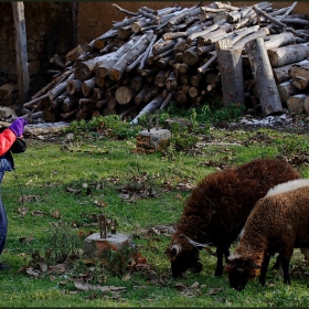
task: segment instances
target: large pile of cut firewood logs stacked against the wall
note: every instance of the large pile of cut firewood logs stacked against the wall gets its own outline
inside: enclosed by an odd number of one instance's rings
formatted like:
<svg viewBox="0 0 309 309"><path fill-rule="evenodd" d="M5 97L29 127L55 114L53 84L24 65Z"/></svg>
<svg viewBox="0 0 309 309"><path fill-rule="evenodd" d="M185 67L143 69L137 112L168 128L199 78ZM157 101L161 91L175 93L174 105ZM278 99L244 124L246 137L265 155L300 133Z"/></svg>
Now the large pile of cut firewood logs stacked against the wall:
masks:
<svg viewBox="0 0 309 309"><path fill-rule="evenodd" d="M285 105L309 111L309 21L292 13L296 4L214 2L137 12L113 4L124 20L65 60L54 55L52 82L23 105L23 117L52 122L119 115L137 122L171 100L190 108L214 98L264 116Z"/></svg>

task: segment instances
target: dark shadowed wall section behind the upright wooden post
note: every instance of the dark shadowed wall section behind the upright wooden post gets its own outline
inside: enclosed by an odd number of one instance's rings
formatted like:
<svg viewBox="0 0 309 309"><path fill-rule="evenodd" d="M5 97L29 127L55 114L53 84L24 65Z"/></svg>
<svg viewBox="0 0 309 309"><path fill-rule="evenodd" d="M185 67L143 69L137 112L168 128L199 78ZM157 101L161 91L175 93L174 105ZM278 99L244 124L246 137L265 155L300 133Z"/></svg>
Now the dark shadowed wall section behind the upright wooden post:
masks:
<svg viewBox="0 0 309 309"><path fill-rule="evenodd" d="M0 2L0 86L17 84L14 20L10 2ZM47 81L46 68L54 54L74 47L72 3L24 2L28 61L33 92ZM75 42L76 43L76 42ZM40 74L42 73L42 74Z"/></svg>

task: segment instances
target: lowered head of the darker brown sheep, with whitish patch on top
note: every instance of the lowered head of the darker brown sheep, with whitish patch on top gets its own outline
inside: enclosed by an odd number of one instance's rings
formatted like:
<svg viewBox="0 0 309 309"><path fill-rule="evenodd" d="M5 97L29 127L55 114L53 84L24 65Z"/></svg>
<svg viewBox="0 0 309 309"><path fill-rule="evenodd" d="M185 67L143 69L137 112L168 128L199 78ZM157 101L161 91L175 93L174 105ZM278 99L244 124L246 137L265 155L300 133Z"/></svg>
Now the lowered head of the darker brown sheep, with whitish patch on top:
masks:
<svg viewBox="0 0 309 309"><path fill-rule="evenodd" d="M181 277L188 269L200 273L203 268L199 262L199 249L189 243L182 245L181 243L172 242L168 246L166 254L171 262L173 278Z"/></svg>

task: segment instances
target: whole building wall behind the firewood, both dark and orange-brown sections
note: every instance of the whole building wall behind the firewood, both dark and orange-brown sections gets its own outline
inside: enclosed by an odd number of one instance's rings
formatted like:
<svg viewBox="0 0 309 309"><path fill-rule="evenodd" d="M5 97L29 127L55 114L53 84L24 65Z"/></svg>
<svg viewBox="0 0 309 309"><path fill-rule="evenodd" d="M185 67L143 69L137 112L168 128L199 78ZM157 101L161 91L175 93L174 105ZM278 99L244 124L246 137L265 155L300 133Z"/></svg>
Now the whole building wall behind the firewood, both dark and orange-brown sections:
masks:
<svg viewBox="0 0 309 309"><path fill-rule="evenodd" d="M203 2L206 6L211 2ZM258 2L258 1L257 1ZM253 1L233 2L233 6L253 6ZM156 2L24 2L28 60L31 76L29 97L45 86L51 76L46 74L50 58L54 54L65 56L77 44L89 43L113 26L113 21L121 21L127 14L113 7L137 12L141 7L154 10L181 6L190 8L196 2L156 1ZM274 8L285 8L292 2L273 2ZM0 2L0 86L17 84L17 61L14 21L10 2ZM309 14L309 4L298 2L295 12ZM0 102L1 104L1 102Z"/></svg>

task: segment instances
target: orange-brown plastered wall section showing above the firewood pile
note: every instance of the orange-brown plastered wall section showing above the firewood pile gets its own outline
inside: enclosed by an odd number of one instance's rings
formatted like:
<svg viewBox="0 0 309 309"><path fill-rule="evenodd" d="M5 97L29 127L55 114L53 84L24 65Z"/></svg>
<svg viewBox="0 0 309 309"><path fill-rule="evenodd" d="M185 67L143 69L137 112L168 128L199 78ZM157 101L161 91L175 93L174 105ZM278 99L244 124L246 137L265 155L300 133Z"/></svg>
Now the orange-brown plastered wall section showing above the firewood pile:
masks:
<svg viewBox="0 0 309 309"><path fill-rule="evenodd" d="M206 6L211 2L203 2L203 6ZM222 1L223 3L227 1ZM244 1L244 2L232 2L233 6L236 7L246 7L258 3L259 1ZM103 1L103 2L78 2L78 43L89 43L93 39L102 35L113 26L113 21L121 21L127 14L119 12L117 9L113 7L113 3L118 4L122 9L128 11L137 12L137 10L141 7L148 7L153 10L159 10L168 7L180 6L182 8L191 8L196 2L189 1L131 1L131 2L111 2L111 1ZM285 8L290 7L294 2L277 2L270 1L273 3L273 8ZM309 3L308 2L298 2L295 9L296 13L305 13L309 14Z"/></svg>

